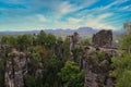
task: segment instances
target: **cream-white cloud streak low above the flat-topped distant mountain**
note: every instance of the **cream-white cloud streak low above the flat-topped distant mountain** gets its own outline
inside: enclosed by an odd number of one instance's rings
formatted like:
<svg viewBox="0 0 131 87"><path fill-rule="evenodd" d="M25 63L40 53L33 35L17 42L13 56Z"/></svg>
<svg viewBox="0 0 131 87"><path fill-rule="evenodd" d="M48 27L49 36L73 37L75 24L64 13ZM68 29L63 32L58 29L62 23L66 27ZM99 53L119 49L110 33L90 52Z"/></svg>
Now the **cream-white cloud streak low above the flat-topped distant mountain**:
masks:
<svg viewBox="0 0 131 87"><path fill-rule="evenodd" d="M104 23L105 18L110 17L112 13L105 13L102 15L87 15L85 18L69 17L67 22L55 21L53 25L49 28L71 28L76 29L82 26L90 26L95 28L116 29L115 26ZM51 22L50 22L51 23Z"/></svg>

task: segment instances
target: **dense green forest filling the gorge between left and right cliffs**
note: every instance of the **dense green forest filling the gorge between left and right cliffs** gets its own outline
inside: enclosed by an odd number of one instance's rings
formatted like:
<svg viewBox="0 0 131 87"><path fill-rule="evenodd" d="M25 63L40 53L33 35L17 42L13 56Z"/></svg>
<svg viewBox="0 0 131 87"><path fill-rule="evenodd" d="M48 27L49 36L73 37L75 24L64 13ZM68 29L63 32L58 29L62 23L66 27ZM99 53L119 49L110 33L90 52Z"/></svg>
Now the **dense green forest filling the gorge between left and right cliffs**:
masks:
<svg viewBox="0 0 131 87"><path fill-rule="evenodd" d="M14 61L14 53L11 50L14 48L26 57L25 87L84 86L84 71L80 71L76 64L81 50L74 49L74 60L69 61L70 41L68 39L63 40L61 37L57 38L41 30L38 35L2 36L0 42L3 46L11 46L11 48L2 48L5 52L2 55L11 58L13 72L15 72L14 66L19 66L20 62ZM61 45L60 48L59 45ZM57 50L62 54L58 54ZM0 59L0 87L4 86L4 65L5 60Z"/></svg>

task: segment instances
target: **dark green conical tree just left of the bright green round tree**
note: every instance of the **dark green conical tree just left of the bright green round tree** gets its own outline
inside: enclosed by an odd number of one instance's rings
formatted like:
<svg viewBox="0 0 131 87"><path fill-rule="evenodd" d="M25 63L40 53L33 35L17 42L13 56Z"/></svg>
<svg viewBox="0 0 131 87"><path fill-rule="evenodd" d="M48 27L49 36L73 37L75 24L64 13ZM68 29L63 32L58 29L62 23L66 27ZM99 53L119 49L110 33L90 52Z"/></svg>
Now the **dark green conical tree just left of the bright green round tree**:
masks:
<svg viewBox="0 0 131 87"><path fill-rule="evenodd" d="M58 76L58 72L60 72L60 69L62 66L62 63L60 60L53 54L49 61L48 67L46 67L45 71L45 82L44 87L61 87L61 80Z"/></svg>

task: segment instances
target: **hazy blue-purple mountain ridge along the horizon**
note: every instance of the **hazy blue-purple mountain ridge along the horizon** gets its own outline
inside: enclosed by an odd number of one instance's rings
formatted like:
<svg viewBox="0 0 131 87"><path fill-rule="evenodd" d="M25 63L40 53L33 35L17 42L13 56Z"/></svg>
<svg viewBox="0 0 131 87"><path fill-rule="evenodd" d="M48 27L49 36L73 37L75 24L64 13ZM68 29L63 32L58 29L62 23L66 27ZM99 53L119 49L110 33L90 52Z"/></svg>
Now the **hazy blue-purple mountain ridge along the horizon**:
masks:
<svg viewBox="0 0 131 87"><path fill-rule="evenodd" d="M100 29L92 28L92 27L79 27L78 29L44 29L45 33L51 33L56 36L66 37L67 35L72 35L74 32L78 32L81 37L92 37L93 34L96 34ZM23 35L23 34L38 34L40 30L27 30L27 32L0 32L0 35ZM112 30L115 35L119 35L124 33L124 30Z"/></svg>

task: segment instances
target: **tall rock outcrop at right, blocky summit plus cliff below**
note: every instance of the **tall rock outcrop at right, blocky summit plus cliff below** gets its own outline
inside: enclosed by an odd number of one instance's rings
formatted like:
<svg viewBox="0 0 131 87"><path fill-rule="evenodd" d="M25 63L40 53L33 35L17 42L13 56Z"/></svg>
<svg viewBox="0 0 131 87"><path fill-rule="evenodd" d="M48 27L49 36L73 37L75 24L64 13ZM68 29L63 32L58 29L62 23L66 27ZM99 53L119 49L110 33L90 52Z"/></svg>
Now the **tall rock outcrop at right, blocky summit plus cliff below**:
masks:
<svg viewBox="0 0 131 87"><path fill-rule="evenodd" d="M109 73L116 49L111 49L111 30L100 30L93 36L93 46L87 46L85 52L84 87L114 87L115 79Z"/></svg>

